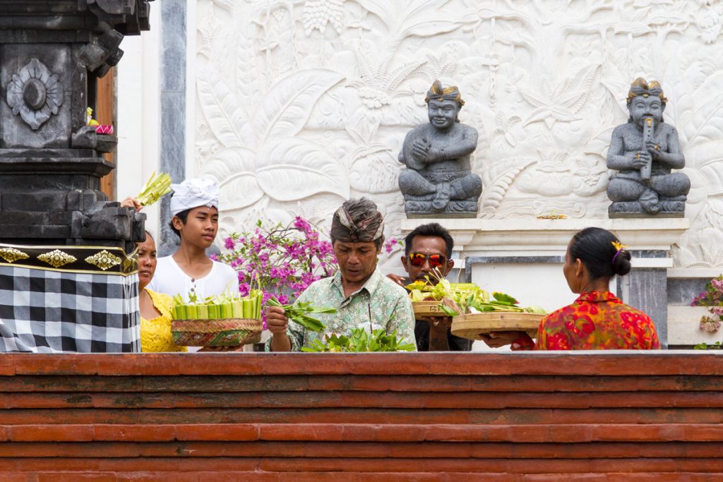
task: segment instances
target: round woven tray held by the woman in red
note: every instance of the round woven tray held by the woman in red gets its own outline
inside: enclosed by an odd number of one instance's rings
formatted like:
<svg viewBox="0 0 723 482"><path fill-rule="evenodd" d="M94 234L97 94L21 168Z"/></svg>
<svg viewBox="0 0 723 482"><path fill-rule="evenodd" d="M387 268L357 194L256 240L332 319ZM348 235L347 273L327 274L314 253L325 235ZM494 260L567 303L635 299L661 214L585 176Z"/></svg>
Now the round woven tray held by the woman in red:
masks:
<svg viewBox="0 0 723 482"><path fill-rule="evenodd" d="M539 313L505 311L462 314L452 319L452 335L479 340L480 333L520 331L536 338L543 317L544 314Z"/></svg>

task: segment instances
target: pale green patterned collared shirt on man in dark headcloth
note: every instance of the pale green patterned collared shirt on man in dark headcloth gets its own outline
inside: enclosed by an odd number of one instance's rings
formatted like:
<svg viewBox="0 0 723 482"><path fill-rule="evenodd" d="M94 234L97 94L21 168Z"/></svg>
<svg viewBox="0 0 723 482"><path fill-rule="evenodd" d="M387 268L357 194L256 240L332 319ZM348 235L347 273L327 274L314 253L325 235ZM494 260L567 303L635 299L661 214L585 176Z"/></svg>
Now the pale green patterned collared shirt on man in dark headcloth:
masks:
<svg viewBox="0 0 723 482"><path fill-rule="evenodd" d="M337 311L335 314L312 315L326 325L324 332L315 333L300 324L289 322L287 333L292 351L299 351L314 340L322 340L325 333L347 335L360 324L368 325L370 317L372 324L380 325L388 333L396 330L400 343L415 344L414 311L409 296L404 288L383 276L379 268L364 286L348 297L344 296L339 272L318 280L309 285L296 300L297 303L306 301L311 301L312 306L335 308ZM267 351L270 345L271 340L268 340Z"/></svg>

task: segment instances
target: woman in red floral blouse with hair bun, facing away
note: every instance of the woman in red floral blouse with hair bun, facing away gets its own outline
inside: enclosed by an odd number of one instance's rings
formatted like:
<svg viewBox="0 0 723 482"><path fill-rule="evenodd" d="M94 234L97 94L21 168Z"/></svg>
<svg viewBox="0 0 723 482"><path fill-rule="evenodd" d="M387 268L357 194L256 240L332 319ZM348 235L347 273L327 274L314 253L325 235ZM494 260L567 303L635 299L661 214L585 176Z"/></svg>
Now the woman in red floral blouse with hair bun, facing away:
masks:
<svg viewBox="0 0 723 482"><path fill-rule="evenodd" d="M492 348L513 350L650 350L660 348L648 315L623 304L608 290L610 278L630 272L630 253L602 228L586 228L568 244L565 279L576 301L542 319L537 342L523 332L482 335Z"/></svg>

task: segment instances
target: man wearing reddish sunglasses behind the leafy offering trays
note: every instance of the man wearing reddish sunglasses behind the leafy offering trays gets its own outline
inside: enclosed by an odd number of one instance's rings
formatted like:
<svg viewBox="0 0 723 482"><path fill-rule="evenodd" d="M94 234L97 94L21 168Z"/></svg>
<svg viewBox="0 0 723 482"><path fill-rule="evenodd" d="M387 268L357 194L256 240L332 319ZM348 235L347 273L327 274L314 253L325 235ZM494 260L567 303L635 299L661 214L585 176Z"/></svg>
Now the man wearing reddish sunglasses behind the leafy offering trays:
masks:
<svg viewBox="0 0 723 482"><path fill-rule="evenodd" d="M395 275L390 279L400 285L416 280L428 280L437 284L437 276L445 277L454 267L452 249L454 240L439 223L417 226L404 239L404 256L402 264L407 272L408 280ZM452 317L419 317L414 325L416 348L419 351L469 351L472 340L452 335L450 327Z"/></svg>

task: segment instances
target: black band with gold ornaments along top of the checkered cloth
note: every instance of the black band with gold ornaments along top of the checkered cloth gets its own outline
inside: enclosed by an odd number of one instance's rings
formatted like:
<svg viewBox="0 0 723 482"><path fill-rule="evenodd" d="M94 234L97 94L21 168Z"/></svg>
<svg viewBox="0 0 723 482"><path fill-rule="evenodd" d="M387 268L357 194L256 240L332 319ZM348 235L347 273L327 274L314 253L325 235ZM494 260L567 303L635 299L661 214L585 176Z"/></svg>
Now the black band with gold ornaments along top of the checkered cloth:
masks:
<svg viewBox="0 0 723 482"><path fill-rule="evenodd" d="M126 254L110 246L20 246L0 244L0 265L38 270L132 275L137 250Z"/></svg>

